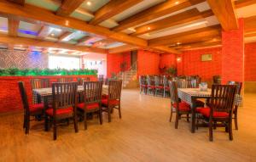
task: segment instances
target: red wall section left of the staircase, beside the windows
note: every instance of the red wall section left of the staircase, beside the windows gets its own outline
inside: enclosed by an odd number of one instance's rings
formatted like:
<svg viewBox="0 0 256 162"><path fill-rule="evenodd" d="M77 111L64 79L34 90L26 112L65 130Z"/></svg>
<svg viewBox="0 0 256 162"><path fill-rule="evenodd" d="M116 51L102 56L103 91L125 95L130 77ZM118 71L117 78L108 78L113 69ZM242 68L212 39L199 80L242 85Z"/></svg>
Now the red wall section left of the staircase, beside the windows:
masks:
<svg viewBox="0 0 256 162"><path fill-rule="evenodd" d="M111 77L112 73L120 72L120 64L126 62L126 70L131 67L131 52L108 53L107 54L107 75Z"/></svg>

